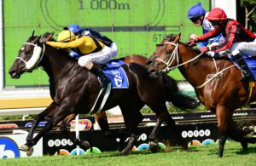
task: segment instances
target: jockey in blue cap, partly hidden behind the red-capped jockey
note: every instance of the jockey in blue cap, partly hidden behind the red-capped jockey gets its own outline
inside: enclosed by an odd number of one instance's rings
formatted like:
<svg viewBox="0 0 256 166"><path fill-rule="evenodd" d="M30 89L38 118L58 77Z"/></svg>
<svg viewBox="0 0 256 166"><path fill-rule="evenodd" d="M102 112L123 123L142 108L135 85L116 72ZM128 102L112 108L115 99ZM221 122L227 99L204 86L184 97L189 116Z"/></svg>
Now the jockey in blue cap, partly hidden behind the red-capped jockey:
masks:
<svg viewBox="0 0 256 166"><path fill-rule="evenodd" d="M208 31L212 31L214 28L205 17L208 16L209 13L206 12L205 9L201 7L201 3L197 3L195 6L192 6L188 11L187 19L191 20L195 26L201 26L203 34L207 33ZM195 39L197 36L195 34L191 34L189 39ZM201 42L197 45L197 48L206 47L207 44L214 44L217 45L218 43L224 42L224 37L222 34L219 34L218 37L213 37L208 39L205 42Z"/></svg>

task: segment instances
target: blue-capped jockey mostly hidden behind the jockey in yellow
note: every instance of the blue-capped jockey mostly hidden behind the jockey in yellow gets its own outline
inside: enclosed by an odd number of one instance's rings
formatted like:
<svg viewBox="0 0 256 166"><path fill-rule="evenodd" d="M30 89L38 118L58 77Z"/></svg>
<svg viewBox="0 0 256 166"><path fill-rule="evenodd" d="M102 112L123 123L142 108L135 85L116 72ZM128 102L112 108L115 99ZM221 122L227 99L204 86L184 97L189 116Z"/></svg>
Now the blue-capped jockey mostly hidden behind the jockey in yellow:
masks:
<svg viewBox="0 0 256 166"><path fill-rule="evenodd" d="M117 48L116 43L113 43L112 40L110 40L108 37L105 37L104 35L102 35L102 33L93 31L88 28L82 29L77 24L72 24L67 27L64 27L64 30L67 30L67 29L69 31L72 31L78 37L83 37L83 36L92 37L92 38L95 38L97 41L104 43L106 46L108 46L111 49L111 53L112 53L113 57L118 54L118 48ZM78 53L73 52L73 51L71 52L70 55L73 56L74 58L78 58L80 56Z"/></svg>

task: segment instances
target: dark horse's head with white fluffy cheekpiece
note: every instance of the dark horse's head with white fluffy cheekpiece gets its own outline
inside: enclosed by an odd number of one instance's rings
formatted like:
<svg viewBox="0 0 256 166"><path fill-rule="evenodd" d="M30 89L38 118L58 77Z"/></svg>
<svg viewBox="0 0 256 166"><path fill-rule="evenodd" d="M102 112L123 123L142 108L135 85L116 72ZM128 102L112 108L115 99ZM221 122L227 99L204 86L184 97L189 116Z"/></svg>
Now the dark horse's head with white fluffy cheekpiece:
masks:
<svg viewBox="0 0 256 166"><path fill-rule="evenodd" d="M32 72L38 67L42 59L42 45L44 44L39 42L40 38L41 36L34 36L33 31L32 37L23 43L14 64L9 69L12 78L19 78L24 72Z"/></svg>

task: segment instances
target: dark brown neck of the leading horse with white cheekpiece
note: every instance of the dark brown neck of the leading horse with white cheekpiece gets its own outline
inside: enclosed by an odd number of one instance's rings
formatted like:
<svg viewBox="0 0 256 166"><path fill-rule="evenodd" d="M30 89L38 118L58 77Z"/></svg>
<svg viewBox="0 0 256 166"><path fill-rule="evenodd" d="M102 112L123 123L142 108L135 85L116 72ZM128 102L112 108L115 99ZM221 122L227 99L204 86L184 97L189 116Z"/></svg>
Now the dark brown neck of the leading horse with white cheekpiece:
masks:
<svg viewBox="0 0 256 166"><path fill-rule="evenodd" d="M68 57L67 52L45 45L44 57L40 66L44 68L50 80L60 77L61 73L73 66L73 63L74 61Z"/></svg>

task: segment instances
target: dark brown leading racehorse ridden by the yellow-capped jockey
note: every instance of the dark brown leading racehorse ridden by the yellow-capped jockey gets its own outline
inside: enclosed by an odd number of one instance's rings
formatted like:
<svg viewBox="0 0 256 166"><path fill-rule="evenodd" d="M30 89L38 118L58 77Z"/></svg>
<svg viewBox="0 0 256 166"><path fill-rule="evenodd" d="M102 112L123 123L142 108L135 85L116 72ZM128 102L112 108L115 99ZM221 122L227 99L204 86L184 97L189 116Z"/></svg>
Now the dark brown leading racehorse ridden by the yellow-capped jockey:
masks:
<svg viewBox="0 0 256 166"><path fill-rule="evenodd" d="M32 146L36 145L43 135L61 121L61 130L73 141L74 145L88 147L84 141L77 140L67 131L67 124L77 114L89 113L96 101L100 91L100 83L97 77L87 71L84 67L68 56L68 53L61 49L54 49L47 44L41 43L41 36L29 37L22 45L13 66L9 69L9 74L13 78L19 78L24 72L32 72L33 69L41 66L49 76L49 90L53 102L41 112L32 123L32 128L36 128L38 121L42 117L49 117L44 128L35 137L28 137L26 144L20 150L26 151L30 156ZM111 89L106 104L102 110L108 110L114 106L119 106L125 120L125 126L129 131L130 140L125 147L123 155L128 155L131 148L137 141L137 124L141 122L143 116L139 112L146 104L158 117L158 122L165 122L174 138L180 141L184 150L188 149L187 143L181 137L172 117L167 112L166 97L168 94L168 83L163 83L163 77L151 79L144 66L137 63L130 63L121 66L129 80L128 89ZM166 77L166 82L169 79ZM171 84L172 85L172 84ZM176 98L172 96L172 100ZM156 135L156 125L151 135ZM33 135L34 130L30 129L29 135Z"/></svg>

